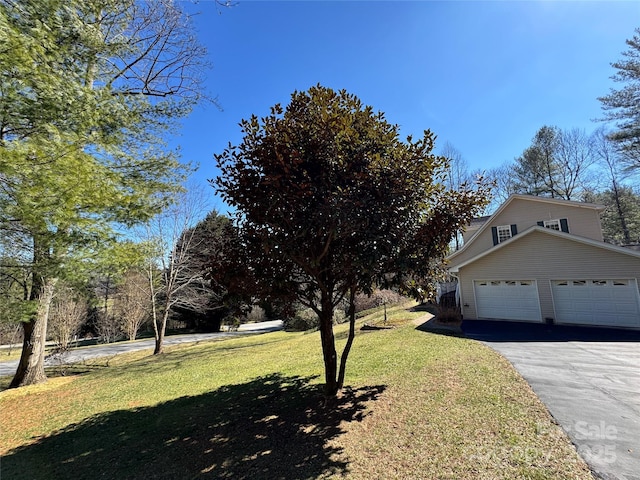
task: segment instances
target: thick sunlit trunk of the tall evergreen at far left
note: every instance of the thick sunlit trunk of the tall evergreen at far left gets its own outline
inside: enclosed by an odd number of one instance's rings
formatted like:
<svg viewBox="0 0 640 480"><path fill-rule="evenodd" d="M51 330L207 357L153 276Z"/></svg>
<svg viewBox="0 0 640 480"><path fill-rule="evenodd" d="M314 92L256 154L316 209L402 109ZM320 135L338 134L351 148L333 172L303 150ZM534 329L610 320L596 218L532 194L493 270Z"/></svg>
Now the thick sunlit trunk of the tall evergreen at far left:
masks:
<svg viewBox="0 0 640 480"><path fill-rule="evenodd" d="M37 278L34 275L34 278ZM37 282L37 284L35 284ZM22 324L24 340L18 370L9 388L35 385L47 381L44 373L44 347L47 339L49 307L53 298L56 279L34 280L31 300L38 302L35 315Z"/></svg>

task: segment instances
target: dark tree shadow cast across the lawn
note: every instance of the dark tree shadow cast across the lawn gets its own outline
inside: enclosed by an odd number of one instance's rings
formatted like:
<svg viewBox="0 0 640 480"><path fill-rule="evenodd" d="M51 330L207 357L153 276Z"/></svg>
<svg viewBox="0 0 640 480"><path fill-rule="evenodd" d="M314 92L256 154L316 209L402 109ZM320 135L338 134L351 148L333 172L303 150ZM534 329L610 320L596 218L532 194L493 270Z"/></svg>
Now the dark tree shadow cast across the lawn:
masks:
<svg viewBox="0 0 640 480"><path fill-rule="evenodd" d="M19 447L11 479L311 479L347 474L330 441L384 386L325 405L313 377L273 374L153 407L109 412ZM158 388L162 388L161 385Z"/></svg>

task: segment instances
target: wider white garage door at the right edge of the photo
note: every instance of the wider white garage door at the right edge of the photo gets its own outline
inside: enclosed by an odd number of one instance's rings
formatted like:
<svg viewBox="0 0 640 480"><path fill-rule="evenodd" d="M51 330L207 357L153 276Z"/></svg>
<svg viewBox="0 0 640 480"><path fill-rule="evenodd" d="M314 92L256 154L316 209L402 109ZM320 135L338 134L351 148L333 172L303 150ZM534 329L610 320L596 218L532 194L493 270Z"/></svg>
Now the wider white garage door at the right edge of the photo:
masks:
<svg viewBox="0 0 640 480"><path fill-rule="evenodd" d="M557 323L640 326L640 299L635 279L553 280Z"/></svg>

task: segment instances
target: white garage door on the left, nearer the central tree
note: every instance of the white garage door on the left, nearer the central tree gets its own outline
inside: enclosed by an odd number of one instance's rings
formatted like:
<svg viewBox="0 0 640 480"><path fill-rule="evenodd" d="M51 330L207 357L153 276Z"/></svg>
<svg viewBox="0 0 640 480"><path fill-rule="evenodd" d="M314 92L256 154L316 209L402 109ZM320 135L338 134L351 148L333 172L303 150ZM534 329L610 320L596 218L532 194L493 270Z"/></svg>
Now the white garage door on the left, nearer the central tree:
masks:
<svg viewBox="0 0 640 480"><path fill-rule="evenodd" d="M542 321L534 280L475 280L478 318Z"/></svg>

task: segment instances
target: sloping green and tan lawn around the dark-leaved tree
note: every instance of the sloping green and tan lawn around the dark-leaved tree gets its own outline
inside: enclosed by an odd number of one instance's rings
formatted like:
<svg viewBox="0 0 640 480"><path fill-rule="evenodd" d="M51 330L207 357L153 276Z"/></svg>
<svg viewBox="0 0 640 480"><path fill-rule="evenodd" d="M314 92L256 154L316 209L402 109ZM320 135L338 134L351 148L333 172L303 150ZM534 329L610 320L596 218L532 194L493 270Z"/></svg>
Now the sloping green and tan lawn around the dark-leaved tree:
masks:
<svg viewBox="0 0 640 480"><path fill-rule="evenodd" d="M1 392L2 478L592 478L508 362L416 330L423 313L358 332L330 403L318 333L137 352Z"/></svg>

